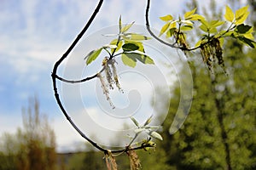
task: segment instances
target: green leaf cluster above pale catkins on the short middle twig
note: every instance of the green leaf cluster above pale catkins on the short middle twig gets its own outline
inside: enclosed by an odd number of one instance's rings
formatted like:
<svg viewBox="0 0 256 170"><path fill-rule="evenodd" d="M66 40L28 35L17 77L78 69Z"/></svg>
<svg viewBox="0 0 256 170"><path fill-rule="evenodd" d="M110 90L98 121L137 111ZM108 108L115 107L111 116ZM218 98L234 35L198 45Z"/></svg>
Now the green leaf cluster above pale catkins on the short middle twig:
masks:
<svg viewBox="0 0 256 170"><path fill-rule="evenodd" d="M143 40L151 39L151 37L146 37L134 32L128 32L133 24L134 22L123 25L121 17L119 17L119 34L105 35L118 37L114 38L108 45L90 51L90 53L84 58L86 59L86 65L90 65L90 63L102 53L102 49L108 53L109 59L113 59L121 55L124 65L135 67L137 65L137 60L143 64L154 64L154 60L145 54L142 42Z"/></svg>

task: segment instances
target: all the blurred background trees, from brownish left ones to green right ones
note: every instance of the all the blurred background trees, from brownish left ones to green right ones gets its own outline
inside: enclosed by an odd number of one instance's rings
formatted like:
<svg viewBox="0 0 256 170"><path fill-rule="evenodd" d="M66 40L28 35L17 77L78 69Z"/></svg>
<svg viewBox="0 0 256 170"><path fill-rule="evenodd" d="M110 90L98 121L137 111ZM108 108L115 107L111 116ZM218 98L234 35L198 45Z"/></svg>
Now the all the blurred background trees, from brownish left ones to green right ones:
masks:
<svg viewBox="0 0 256 170"><path fill-rule="evenodd" d="M235 8L239 1L230 1ZM256 2L250 5L249 22L256 25ZM188 8L195 8L190 1ZM218 17L214 1L211 14ZM200 11L203 13L204 11ZM193 40L191 40L193 41ZM189 56L194 80L194 98L183 127L170 135L169 128L180 100L179 83L172 87L170 105L159 101L159 113L169 110L163 123L163 141L155 150L137 150L143 169L256 169L256 50L229 39L224 44L224 62L212 82L199 54ZM182 65L182 64L181 64ZM183 70L181 70L183 71ZM184 71L185 72L185 71ZM161 93L160 93L161 94ZM161 94L165 97L164 94ZM78 153L56 153L55 134L47 117L40 114L38 100L22 110L23 128L4 133L0 141L0 170L7 169L107 169L102 152L88 145ZM125 154L116 157L119 169L130 169Z"/></svg>

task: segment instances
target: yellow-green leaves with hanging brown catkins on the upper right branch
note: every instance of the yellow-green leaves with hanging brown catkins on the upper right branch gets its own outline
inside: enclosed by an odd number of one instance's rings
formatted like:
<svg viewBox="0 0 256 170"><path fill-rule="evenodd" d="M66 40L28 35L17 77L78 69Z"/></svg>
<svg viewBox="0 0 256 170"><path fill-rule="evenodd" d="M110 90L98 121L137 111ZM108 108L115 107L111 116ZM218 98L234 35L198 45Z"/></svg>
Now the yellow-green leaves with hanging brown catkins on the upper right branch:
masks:
<svg viewBox="0 0 256 170"><path fill-rule="evenodd" d="M244 24L249 14L248 6L237 9L235 13L229 6L226 6L224 20L206 20L202 15L195 14L195 12L196 8L186 12L178 20L174 20L171 14L160 17L160 20L165 21L166 24L162 26L159 36L166 34L167 38L172 37L174 39L173 45L176 44L177 48L183 51L200 48L202 59L210 71L212 71L213 63L216 60L217 64L224 68L222 55L224 38L232 37L251 48L255 48L253 26ZM189 48L186 34L195 28L196 22L200 24L198 28L201 31L201 38L195 43L194 48ZM221 28L219 29L219 27Z"/></svg>

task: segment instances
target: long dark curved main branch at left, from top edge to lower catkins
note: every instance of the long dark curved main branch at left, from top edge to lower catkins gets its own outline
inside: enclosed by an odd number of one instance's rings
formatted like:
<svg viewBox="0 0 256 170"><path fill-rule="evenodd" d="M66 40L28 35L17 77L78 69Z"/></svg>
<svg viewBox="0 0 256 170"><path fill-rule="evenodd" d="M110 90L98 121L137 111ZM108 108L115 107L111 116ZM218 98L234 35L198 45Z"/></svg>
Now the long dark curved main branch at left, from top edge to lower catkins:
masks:
<svg viewBox="0 0 256 170"><path fill-rule="evenodd" d="M76 39L73 41L73 43L71 44L71 46L67 49L67 52L65 54L62 55L61 59L59 59L58 61L55 62L51 77L52 77L52 82L53 82L53 88L54 88L54 93L55 93L55 99L57 101L57 104L59 105L59 107L61 108L62 113L64 114L64 116L67 118L67 121L70 122L70 124L73 126L73 128L84 138L86 139L88 142L90 142L90 144L92 144L93 146L95 146L98 150L102 150L104 152L106 152L106 149L103 149L101 146L99 146L98 144L96 144L94 141L92 141L91 139L89 139L80 129L79 127L77 127L75 125L75 123L72 121L72 119L70 118L70 116L68 116L67 111L64 109L64 106L61 103L61 99L59 97L58 94L58 90L57 90L57 85L56 85L56 72L57 69L59 67L59 65L61 65L61 62L67 58L67 55L70 54L70 52L73 50L73 48L76 46L76 44L79 42L79 40L81 39L81 37L83 37L85 31L88 30L90 24L92 23L92 21L95 19L96 14L99 12L100 8L102 7L102 3L103 0L100 0L98 5L96 6L95 11L93 12L93 14L90 16L90 20L88 20L88 22L86 23L86 25L84 26L84 29L79 33L78 37L76 37Z"/></svg>

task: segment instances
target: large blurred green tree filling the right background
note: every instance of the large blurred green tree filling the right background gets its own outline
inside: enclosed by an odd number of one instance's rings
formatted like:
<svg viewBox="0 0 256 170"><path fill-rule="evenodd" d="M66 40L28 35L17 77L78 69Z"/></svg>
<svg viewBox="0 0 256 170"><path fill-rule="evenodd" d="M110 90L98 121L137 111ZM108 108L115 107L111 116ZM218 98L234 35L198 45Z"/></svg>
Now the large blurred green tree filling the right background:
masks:
<svg viewBox="0 0 256 170"><path fill-rule="evenodd" d="M190 62L194 98L189 116L174 135L169 127L180 99L179 85L173 88L169 115L164 123L168 163L177 169L254 169L256 164L256 60L255 49L229 39L224 44L228 76L213 65L209 73L198 58ZM194 54L195 55L195 54Z"/></svg>

